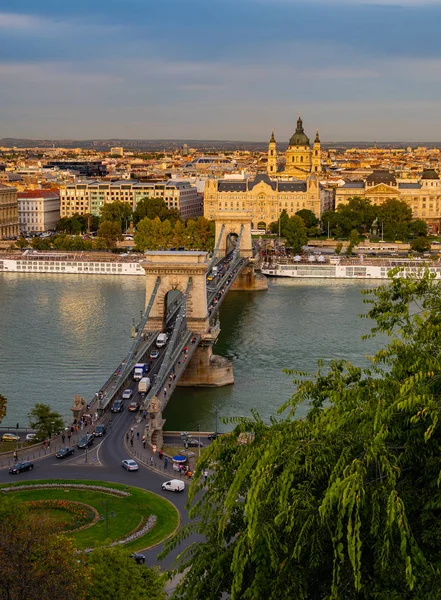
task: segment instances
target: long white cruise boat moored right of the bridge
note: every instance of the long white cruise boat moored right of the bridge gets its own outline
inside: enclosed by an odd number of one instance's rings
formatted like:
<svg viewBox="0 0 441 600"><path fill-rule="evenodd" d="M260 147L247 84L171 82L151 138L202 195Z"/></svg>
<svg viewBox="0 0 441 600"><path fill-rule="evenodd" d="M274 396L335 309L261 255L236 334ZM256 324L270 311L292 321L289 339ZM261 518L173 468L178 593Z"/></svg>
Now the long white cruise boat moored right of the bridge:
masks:
<svg viewBox="0 0 441 600"><path fill-rule="evenodd" d="M312 257L310 257L311 259ZM297 260L296 260L297 259ZM262 273L269 277L295 277L319 279L387 279L391 269L400 268L400 277L416 277L428 269L437 279L441 279L441 263L405 259L344 259L323 256L313 260L294 257L276 259L263 263Z"/></svg>

